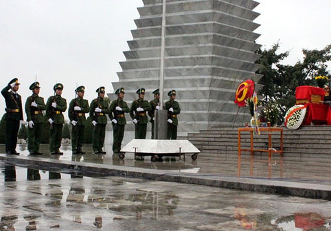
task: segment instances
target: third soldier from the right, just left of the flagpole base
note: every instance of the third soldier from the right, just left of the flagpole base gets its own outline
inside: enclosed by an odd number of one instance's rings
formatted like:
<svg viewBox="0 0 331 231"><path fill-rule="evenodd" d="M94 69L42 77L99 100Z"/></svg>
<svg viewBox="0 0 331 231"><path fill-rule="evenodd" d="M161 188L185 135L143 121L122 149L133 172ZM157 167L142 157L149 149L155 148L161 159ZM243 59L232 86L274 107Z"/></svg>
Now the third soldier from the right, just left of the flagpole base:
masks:
<svg viewBox="0 0 331 231"><path fill-rule="evenodd" d="M139 88L136 92L139 97L132 102L130 108L130 116L135 124L134 138L145 139L148 123L146 112L148 112L151 107L147 100L143 100L145 96L145 88Z"/></svg>

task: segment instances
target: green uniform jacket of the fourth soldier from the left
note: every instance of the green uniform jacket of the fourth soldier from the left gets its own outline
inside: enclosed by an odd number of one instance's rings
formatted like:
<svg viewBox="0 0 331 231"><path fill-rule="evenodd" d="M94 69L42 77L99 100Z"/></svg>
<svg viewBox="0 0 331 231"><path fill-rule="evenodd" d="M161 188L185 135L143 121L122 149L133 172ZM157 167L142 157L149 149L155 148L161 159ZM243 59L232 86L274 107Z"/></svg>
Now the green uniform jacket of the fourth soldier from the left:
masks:
<svg viewBox="0 0 331 231"><path fill-rule="evenodd" d="M79 106L81 110L74 110L75 106ZM75 120L78 125L86 125L85 113L90 112L90 106L87 99L76 97L69 103L68 116L70 121Z"/></svg>

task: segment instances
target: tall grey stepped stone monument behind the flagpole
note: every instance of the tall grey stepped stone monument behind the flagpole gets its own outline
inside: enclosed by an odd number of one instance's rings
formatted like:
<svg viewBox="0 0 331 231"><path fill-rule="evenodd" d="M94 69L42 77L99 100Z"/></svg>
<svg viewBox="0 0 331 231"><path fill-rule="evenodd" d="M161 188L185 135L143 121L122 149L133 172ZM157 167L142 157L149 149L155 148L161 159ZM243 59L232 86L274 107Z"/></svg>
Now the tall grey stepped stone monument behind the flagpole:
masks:
<svg viewBox="0 0 331 231"><path fill-rule="evenodd" d="M133 39L127 41L129 50L124 51L126 60L120 62L119 81L112 82L114 89L125 88L128 103L137 98L137 88L145 87L145 99L151 100L151 92L160 85L162 0L143 3ZM254 51L260 47L255 43L259 34L253 32L259 26L253 22L259 15L253 11L258 4L254 0L166 1L163 99L168 100L169 90L177 90L182 109L179 135L233 124L238 110L236 88L243 80L261 77L255 74L259 66L254 63L259 58ZM249 120L248 110L242 109L237 124L242 124L245 114ZM132 124L125 129L134 130Z"/></svg>

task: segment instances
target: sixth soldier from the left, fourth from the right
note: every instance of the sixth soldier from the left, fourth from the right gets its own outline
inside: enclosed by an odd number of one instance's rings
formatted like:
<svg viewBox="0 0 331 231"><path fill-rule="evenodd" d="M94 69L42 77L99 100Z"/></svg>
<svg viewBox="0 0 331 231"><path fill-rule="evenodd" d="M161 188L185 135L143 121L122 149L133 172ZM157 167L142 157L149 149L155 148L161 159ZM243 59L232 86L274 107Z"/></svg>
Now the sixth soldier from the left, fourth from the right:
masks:
<svg viewBox="0 0 331 231"><path fill-rule="evenodd" d="M124 137L124 126L126 119L124 113L128 113L130 108L123 101L124 88L120 87L115 91L117 99L113 100L109 106L109 117L113 125L113 152L118 153L121 149L122 140Z"/></svg>

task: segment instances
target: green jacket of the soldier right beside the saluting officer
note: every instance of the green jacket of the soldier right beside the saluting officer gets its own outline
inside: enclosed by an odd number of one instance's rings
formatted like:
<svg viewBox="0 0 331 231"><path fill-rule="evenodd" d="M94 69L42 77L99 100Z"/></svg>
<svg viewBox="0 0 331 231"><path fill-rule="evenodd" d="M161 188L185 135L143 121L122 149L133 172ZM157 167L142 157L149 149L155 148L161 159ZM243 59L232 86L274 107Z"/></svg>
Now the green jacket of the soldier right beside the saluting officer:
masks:
<svg viewBox="0 0 331 231"><path fill-rule="evenodd" d="M38 107L31 106L32 102L36 102ZM45 121L43 110L46 110L46 105L43 97L33 93L25 102L25 112L27 113L27 121L33 120L34 123L43 123Z"/></svg>

